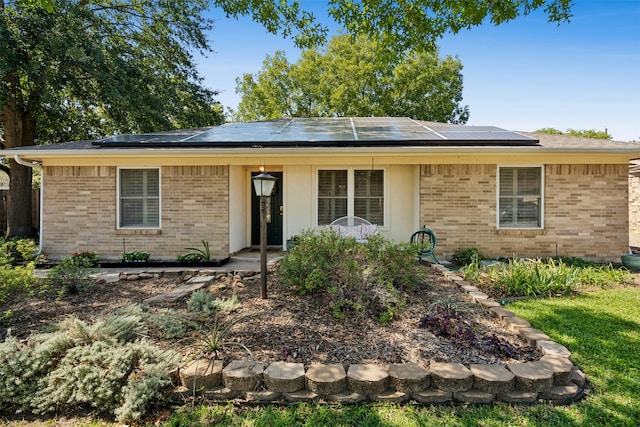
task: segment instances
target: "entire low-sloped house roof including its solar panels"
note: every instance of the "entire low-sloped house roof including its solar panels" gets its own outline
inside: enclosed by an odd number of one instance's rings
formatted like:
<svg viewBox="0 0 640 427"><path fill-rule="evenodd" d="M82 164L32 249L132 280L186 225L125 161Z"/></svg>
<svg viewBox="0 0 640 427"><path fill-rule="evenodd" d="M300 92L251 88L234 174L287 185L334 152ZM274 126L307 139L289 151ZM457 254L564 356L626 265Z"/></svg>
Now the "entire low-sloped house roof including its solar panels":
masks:
<svg viewBox="0 0 640 427"><path fill-rule="evenodd" d="M640 143L567 135L513 132L494 126L467 126L409 118L295 118L218 127L117 135L93 141L38 145L7 150L20 154L109 149L304 149L321 147L416 147L426 150L542 150L551 152L624 152L640 158Z"/></svg>

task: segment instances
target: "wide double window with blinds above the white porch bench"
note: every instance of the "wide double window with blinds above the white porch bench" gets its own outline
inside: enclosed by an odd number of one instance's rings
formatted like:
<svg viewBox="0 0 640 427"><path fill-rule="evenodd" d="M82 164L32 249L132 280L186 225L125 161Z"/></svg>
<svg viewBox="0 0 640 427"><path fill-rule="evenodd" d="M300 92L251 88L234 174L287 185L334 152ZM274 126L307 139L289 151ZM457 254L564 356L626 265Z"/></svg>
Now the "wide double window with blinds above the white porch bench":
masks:
<svg viewBox="0 0 640 427"><path fill-rule="evenodd" d="M319 170L318 225L354 215L384 224L384 171Z"/></svg>

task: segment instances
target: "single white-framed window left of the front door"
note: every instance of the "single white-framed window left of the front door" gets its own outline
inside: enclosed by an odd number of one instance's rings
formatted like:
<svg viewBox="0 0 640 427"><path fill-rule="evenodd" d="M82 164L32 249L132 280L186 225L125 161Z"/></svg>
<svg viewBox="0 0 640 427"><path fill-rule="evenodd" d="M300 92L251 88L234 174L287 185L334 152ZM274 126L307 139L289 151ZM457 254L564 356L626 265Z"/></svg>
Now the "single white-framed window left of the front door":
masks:
<svg viewBox="0 0 640 427"><path fill-rule="evenodd" d="M160 170L120 169L119 226L160 227Z"/></svg>

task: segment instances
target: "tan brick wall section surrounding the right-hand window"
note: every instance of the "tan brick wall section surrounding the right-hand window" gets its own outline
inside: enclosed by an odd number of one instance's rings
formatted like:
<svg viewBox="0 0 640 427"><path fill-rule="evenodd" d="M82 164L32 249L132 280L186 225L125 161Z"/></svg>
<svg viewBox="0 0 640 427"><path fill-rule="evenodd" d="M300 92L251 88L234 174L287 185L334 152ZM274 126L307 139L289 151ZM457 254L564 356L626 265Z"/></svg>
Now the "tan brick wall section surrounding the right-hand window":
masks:
<svg viewBox="0 0 640 427"><path fill-rule="evenodd" d="M420 224L436 254L475 247L490 257L620 261L628 250L627 165L546 165L543 230L498 230L496 165L423 165ZM557 248L557 249L556 249Z"/></svg>

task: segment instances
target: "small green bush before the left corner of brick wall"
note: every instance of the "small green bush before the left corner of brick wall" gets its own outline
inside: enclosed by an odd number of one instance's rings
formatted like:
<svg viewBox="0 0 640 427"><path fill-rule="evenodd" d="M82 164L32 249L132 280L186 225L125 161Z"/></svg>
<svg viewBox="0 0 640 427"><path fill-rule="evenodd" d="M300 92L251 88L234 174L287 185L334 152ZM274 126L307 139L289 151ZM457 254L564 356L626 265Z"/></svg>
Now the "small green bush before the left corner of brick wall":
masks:
<svg viewBox="0 0 640 427"><path fill-rule="evenodd" d="M59 290L59 296L76 295L94 283L95 272L91 260L84 257L67 257L47 274L48 285Z"/></svg>

